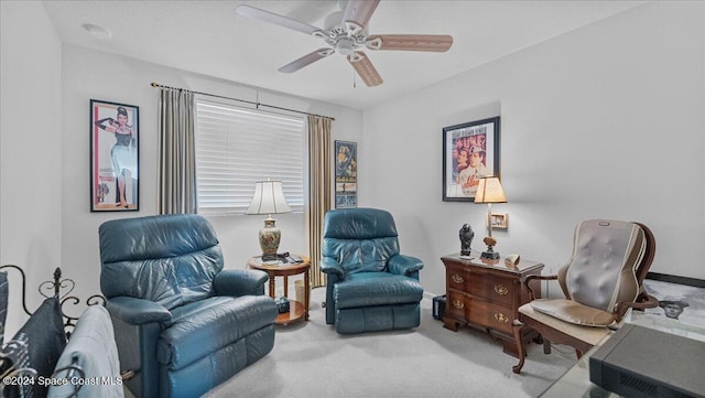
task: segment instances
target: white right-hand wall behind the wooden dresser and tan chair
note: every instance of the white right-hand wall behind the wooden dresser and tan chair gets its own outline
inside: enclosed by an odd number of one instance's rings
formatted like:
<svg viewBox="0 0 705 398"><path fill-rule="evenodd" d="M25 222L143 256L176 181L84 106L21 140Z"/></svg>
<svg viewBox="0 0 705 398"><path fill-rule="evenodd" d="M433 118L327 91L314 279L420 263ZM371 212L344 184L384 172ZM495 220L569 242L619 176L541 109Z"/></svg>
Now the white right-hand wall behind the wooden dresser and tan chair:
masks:
<svg viewBox="0 0 705 398"><path fill-rule="evenodd" d="M705 278L705 3L638 7L365 111L360 203L390 209L402 251L445 291L440 257L486 205L442 202L442 129L501 116L509 229L496 247L555 271L585 218L640 220L651 271Z"/></svg>

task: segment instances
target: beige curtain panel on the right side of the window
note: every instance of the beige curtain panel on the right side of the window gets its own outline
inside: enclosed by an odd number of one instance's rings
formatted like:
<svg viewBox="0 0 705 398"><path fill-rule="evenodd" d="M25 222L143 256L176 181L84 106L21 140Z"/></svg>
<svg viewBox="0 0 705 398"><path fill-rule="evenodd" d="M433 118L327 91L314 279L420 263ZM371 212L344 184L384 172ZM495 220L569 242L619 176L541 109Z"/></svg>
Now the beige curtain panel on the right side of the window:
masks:
<svg viewBox="0 0 705 398"><path fill-rule="evenodd" d="M311 287L326 284L321 272L321 241L323 217L330 209L332 174L330 169L330 118L308 116L308 207L306 230L308 252L311 255Z"/></svg>

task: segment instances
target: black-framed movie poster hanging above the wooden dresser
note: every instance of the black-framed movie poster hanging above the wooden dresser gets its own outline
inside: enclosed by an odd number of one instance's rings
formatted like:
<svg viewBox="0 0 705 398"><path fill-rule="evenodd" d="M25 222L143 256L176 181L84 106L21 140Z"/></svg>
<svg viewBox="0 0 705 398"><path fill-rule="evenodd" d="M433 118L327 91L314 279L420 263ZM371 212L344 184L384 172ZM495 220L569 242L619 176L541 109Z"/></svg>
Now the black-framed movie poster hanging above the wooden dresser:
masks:
<svg viewBox="0 0 705 398"><path fill-rule="evenodd" d="M474 202L482 176L500 176L499 117L443 128L443 201Z"/></svg>

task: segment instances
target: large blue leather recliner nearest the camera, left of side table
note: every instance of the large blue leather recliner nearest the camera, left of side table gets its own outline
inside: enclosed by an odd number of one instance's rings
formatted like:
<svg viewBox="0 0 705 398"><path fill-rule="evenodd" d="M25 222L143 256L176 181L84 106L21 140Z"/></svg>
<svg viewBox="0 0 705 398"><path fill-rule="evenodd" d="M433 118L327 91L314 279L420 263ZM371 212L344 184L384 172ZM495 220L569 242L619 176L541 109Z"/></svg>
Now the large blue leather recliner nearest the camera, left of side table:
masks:
<svg viewBox="0 0 705 398"><path fill-rule="evenodd" d="M100 289L135 397L198 397L272 351L267 273L224 270L204 217L109 220L99 240Z"/></svg>

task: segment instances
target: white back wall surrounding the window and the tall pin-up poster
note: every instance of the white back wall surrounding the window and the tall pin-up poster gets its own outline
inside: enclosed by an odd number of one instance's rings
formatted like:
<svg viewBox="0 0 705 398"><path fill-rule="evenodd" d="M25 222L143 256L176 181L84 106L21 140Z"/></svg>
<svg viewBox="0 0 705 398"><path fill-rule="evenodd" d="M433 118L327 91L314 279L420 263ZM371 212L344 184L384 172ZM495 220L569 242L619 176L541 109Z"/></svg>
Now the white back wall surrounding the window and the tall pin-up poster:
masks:
<svg viewBox="0 0 705 398"><path fill-rule="evenodd" d="M156 213L159 89L150 86L152 82L227 97L257 99L257 90L245 85L64 45L62 142L64 153L70 155L65 157L62 163L62 263L66 275L80 276L78 284L84 291L84 297L95 292L99 281L99 225L107 219ZM91 98L140 107L139 212L89 212L88 116ZM265 90L259 92L259 101L335 117L334 139L357 141L361 137L362 116L359 110ZM226 268L245 268L248 258L261 252L257 234L263 226L263 218L246 215L210 218L224 249ZM280 251L307 254L303 214L280 214L276 219L278 226L282 229Z"/></svg>

